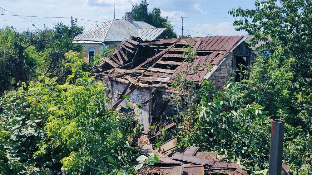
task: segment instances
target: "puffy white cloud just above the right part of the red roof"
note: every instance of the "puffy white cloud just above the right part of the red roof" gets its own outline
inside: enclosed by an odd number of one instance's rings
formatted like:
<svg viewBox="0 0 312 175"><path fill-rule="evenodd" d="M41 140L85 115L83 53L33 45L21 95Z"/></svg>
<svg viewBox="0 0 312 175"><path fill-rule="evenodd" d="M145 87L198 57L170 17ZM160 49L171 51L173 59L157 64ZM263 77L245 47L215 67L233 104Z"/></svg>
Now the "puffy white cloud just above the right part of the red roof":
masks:
<svg viewBox="0 0 312 175"><path fill-rule="evenodd" d="M197 24L194 31L212 35L245 35L245 31L235 31L230 22L220 22L219 24Z"/></svg>

